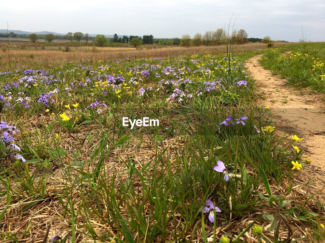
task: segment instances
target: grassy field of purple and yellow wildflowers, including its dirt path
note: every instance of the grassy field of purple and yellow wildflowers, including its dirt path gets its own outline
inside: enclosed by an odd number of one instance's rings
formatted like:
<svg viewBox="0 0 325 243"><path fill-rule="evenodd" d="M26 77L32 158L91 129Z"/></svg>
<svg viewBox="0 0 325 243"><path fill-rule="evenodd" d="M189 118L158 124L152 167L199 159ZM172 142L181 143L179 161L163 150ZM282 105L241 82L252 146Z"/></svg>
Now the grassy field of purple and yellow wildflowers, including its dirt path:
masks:
<svg viewBox="0 0 325 243"><path fill-rule="evenodd" d="M1 242L325 239L325 43L20 45L0 56Z"/></svg>

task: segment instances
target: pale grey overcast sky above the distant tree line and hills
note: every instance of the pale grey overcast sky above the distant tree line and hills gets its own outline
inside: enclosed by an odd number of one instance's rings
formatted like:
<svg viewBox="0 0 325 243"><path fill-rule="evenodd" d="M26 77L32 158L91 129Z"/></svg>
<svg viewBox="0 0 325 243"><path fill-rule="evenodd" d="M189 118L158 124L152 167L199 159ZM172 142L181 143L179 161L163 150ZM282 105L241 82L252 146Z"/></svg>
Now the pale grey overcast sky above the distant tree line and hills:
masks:
<svg viewBox="0 0 325 243"><path fill-rule="evenodd" d="M1 1L0 29L181 37L224 28L249 37L325 41L325 0ZM231 29L232 29L231 24Z"/></svg>

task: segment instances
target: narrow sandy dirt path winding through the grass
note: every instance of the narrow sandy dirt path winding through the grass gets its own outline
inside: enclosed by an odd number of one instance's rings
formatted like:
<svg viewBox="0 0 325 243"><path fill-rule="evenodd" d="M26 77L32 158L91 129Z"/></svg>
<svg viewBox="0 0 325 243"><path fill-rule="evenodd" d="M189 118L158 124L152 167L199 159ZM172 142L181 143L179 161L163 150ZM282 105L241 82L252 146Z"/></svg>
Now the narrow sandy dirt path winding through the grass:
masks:
<svg viewBox="0 0 325 243"><path fill-rule="evenodd" d="M325 181L325 113L324 103L308 90L294 89L285 84L285 79L273 76L264 69L257 55L248 60L246 66L250 75L256 80L261 95L265 98L264 106L269 106L277 127L277 134L282 136L296 134L304 140L296 145L308 155L311 164L301 171L297 181L305 183L312 177L315 184L313 191L323 190ZM291 136L289 137L291 138ZM288 140L289 140L288 138ZM321 192L324 194L325 190Z"/></svg>

